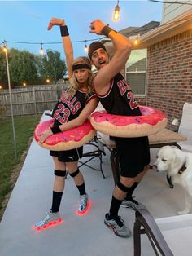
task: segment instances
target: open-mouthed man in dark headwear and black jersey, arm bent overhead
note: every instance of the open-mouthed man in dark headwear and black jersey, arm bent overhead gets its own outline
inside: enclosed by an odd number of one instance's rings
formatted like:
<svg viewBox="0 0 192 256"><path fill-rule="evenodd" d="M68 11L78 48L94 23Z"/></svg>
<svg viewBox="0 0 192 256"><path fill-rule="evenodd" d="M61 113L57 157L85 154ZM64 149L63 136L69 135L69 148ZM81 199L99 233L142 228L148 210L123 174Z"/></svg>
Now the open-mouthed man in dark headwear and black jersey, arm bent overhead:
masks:
<svg viewBox="0 0 192 256"><path fill-rule="evenodd" d="M101 20L94 20L90 24L90 33L107 36L115 47L115 54L109 60L106 48L101 42L93 42L89 46L89 58L98 69L98 74L94 78L94 89L103 108L108 113L116 115L142 115L128 82L120 74L120 70L124 67L131 52L132 44L129 38L116 33ZM111 227L117 236L128 237L131 232L118 216L118 211L125 196L127 200L129 199L130 205L138 204L133 200L132 194L148 170L149 142L148 137L114 139L120 160L120 180L113 191L111 207L109 213L105 215L104 223Z"/></svg>

